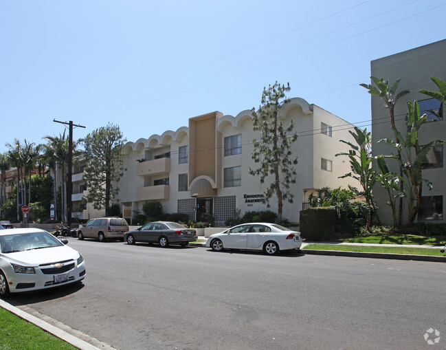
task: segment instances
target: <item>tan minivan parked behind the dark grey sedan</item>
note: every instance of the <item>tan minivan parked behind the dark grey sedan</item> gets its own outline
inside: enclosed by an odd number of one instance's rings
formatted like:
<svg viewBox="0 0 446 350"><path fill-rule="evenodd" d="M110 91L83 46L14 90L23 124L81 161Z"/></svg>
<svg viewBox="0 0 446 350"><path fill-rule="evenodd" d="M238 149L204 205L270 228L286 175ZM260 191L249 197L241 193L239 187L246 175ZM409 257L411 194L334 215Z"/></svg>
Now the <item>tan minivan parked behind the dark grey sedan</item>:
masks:
<svg viewBox="0 0 446 350"><path fill-rule="evenodd" d="M78 228L78 239L96 238L100 242L106 239L124 239L124 233L129 230L129 224L121 217L98 217L91 219Z"/></svg>

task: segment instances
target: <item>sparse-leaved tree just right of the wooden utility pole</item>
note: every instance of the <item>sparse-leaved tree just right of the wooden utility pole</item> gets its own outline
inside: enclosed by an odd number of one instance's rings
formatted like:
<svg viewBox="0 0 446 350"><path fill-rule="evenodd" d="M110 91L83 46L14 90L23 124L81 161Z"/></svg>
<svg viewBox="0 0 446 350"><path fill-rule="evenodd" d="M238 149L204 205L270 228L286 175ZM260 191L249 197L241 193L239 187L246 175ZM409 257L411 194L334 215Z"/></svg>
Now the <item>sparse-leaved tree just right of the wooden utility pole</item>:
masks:
<svg viewBox="0 0 446 350"><path fill-rule="evenodd" d="M105 208L109 215L110 201L118 194L118 182L123 174L122 149L125 140L118 125L96 129L85 138L84 180L88 193L85 199L96 209Z"/></svg>

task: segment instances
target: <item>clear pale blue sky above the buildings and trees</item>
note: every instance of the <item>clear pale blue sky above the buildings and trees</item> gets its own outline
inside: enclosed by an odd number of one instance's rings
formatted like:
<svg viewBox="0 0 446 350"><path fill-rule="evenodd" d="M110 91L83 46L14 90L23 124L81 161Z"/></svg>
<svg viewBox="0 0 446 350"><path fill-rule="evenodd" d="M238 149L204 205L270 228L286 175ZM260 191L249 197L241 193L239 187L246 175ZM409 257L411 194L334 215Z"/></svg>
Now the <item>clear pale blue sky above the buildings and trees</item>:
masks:
<svg viewBox="0 0 446 350"><path fill-rule="evenodd" d="M60 135L54 120L135 142L257 109L276 81L370 130L370 61L445 39L445 15L438 0L2 0L0 152Z"/></svg>

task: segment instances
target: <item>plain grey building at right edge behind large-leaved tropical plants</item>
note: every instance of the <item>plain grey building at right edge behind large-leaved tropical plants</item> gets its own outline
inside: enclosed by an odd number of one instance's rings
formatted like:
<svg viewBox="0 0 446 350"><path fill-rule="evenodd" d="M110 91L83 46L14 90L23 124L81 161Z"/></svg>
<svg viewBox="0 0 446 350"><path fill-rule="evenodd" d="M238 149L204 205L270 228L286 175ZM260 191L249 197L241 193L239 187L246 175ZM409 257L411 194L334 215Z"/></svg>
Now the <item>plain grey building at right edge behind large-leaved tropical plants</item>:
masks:
<svg viewBox="0 0 446 350"><path fill-rule="evenodd" d="M419 145L423 146L433 140L446 140L446 122L443 118L441 102L421 94L419 90L438 91L438 87L430 77L446 80L446 40L431 43L429 45L416 47L412 50L400 52L392 56L379 58L370 63L371 75L376 78L388 80L392 85L395 80L401 78L397 89L408 90L408 94L402 96L395 105L394 119L399 132L405 135L405 118L408 111L407 102L419 102L421 114L427 113L428 122L421 127L419 132ZM373 83L372 83L373 84ZM372 96L372 153L373 155L396 155L392 146L378 143L384 138L394 140L394 133L390 127L390 115L385 107L384 101L378 96ZM438 111L438 116L429 110ZM435 146L423 162L423 179L432 183L432 190L425 184L421 192L421 205L418 221L432 223L444 223L443 213L445 211L444 201L446 196L446 169L444 164L443 145ZM390 171L398 172L396 160L388 160ZM375 187L375 200L379 206L379 216L383 223L392 225L392 210L389 205L386 190L379 186ZM397 200L397 203L399 201ZM397 209L398 212L398 209ZM408 223L408 203L403 200L403 216L401 224Z"/></svg>

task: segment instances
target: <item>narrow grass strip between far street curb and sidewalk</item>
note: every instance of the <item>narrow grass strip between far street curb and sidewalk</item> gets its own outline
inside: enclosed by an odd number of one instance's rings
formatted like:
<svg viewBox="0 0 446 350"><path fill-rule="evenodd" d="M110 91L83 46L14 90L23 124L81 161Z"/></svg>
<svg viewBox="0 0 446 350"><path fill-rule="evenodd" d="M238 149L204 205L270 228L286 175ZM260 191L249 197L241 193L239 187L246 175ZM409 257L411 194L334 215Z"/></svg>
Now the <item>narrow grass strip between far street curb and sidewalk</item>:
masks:
<svg viewBox="0 0 446 350"><path fill-rule="evenodd" d="M341 252L446 256L445 253L440 252L440 248L376 247L372 245L309 244L303 250L337 250Z"/></svg>

